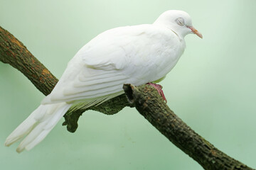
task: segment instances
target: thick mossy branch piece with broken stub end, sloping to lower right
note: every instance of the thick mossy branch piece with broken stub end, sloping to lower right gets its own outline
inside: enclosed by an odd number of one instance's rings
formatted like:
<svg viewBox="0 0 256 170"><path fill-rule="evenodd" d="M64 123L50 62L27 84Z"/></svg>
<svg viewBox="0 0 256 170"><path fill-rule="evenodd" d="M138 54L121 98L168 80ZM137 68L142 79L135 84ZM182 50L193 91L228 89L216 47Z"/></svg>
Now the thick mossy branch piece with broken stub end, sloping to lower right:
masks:
<svg viewBox="0 0 256 170"><path fill-rule="evenodd" d="M221 152L189 128L171 111L153 87L124 84L124 91L129 101L149 123L204 169L251 169Z"/></svg>

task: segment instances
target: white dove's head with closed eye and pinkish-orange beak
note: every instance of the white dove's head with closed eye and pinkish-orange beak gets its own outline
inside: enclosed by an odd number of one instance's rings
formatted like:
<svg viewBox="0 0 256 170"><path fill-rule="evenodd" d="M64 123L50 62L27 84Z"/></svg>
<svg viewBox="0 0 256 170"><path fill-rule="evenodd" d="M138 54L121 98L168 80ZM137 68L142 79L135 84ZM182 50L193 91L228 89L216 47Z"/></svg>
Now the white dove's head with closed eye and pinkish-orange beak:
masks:
<svg viewBox="0 0 256 170"><path fill-rule="evenodd" d="M184 11L170 10L159 16L154 22L154 25L164 26L173 30L180 38L184 38L189 33L194 33L198 37L203 38L203 35L193 28L191 16Z"/></svg>

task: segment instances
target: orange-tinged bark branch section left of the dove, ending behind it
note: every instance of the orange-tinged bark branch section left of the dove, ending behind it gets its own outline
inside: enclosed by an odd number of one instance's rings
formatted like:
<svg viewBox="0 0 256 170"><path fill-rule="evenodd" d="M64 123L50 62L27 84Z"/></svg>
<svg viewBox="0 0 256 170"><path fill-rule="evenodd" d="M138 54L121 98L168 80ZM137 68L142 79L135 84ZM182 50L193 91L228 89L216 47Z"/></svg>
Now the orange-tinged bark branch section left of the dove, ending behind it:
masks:
<svg viewBox="0 0 256 170"><path fill-rule="evenodd" d="M22 72L44 95L58 82L53 74L28 51L25 45L0 26L0 61Z"/></svg>

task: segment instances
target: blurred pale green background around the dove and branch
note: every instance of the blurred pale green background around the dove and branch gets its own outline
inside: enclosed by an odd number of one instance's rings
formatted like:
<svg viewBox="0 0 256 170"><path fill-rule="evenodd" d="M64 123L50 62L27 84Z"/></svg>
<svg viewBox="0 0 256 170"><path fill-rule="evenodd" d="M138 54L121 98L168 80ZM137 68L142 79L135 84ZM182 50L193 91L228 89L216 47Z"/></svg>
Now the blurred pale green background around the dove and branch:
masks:
<svg viewBox="0 0 256 170"><path fill-rule="evenodd" d="M0 24L60 78L75 53L103 31L153 23L169 9L188 12L203 34L161 82L169 107L226 154L256 168L255 0L0 0ZM4 141L43 99L26 77L0 62L3 169L202 169L134 108L87 111L75 133L61 125L17 154Z"/></svg>

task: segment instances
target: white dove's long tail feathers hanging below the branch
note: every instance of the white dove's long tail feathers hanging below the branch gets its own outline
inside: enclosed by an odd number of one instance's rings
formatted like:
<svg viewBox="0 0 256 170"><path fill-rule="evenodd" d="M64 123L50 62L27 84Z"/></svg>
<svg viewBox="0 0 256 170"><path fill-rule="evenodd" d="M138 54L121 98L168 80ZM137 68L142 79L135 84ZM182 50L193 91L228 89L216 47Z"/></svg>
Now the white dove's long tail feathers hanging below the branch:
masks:
<svg viewBox="0 0 256 170"><path fill-rule="evenodd" d="M14 132L11 132L5 145L10 146L26 136L18 145L16 151L22 152L23 149L32 149L48 135L70 106L72 104L64 102L39 106L21 125L18 125Z"/></svg>

